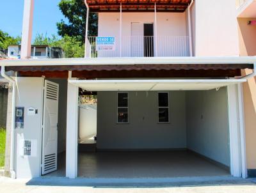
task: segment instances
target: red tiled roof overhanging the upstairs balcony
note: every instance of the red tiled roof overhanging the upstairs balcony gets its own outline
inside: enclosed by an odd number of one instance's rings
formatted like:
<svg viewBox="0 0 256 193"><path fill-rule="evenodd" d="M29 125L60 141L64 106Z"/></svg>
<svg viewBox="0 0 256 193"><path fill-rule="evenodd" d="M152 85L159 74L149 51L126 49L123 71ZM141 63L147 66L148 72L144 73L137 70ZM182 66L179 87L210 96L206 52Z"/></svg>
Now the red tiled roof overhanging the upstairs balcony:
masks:
<svg viewBox="0 0 256 193"><path fill-rule="evenodd" d="M185 12L191 0L87 0L90 12Z"/></svg>

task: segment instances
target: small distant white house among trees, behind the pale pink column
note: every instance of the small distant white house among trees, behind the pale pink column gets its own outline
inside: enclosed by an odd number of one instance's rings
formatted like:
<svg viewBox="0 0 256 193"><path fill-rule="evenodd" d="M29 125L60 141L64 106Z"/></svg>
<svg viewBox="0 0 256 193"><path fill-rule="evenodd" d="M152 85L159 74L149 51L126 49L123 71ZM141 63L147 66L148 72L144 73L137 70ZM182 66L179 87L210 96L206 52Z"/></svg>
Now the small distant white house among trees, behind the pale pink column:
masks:
<svg viewBox="0 0 256 193"><path fill-rule="evenodd" d="M50 47L48 45L31 45L31 58L63 58L63 50L60 47ZM20 45L10 45L8 47L8 58L20 59Z"/></svg>

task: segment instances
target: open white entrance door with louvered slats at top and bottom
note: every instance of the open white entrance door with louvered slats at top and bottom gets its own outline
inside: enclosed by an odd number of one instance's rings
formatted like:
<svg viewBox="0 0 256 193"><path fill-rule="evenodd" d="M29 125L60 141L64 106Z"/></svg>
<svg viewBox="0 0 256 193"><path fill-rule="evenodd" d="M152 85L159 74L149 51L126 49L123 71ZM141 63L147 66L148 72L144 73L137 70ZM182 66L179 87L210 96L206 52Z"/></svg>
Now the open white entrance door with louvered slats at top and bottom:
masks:
<svg viewBox="0 0 256 193"><path fill-rule="evenodd" d="M45 81L42 174L57 170L59 84Z"/></svg>

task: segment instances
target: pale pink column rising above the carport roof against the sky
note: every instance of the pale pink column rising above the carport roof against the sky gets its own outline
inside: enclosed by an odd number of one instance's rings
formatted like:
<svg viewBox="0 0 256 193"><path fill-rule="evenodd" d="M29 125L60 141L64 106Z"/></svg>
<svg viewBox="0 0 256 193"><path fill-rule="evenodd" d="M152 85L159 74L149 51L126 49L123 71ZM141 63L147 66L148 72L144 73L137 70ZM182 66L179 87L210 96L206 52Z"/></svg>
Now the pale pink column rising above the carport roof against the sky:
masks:
<svg viewBox="0 0 256 193"><path fill-rule="evenodd" d="M31 57L31 38L33 26L34 0L24 0L22 39L20 58L26 59Z"/></svg>

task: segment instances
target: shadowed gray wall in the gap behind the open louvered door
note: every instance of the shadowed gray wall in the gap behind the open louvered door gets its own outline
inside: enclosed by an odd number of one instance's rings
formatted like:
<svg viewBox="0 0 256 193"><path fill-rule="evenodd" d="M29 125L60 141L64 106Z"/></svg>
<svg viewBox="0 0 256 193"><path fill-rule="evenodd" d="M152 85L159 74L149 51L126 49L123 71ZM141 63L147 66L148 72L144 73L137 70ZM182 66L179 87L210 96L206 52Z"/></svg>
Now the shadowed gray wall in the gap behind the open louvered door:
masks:
<svg viewBox="0 0 256 193"><path fill-rule="evenodd" d="M59 84L58 153L66 150L67 138L67 79L48 79Z"/></svg>

